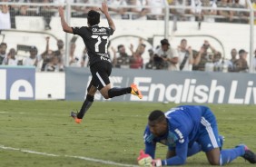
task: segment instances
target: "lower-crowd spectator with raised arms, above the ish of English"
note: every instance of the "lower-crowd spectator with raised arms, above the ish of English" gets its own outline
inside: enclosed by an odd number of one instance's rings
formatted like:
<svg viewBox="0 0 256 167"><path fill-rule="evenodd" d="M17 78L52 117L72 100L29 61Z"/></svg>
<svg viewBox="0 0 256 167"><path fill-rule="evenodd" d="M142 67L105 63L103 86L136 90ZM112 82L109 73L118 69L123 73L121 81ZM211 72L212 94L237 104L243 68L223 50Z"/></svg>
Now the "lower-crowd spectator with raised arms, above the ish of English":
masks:
<svg viewBox="0 0 256 167"><path fill-rule="evenodd" d="M211 49L211 52L208 52L208 49ZM198 71L213 71L212 58L217 51L208 41L204 41L198 55L194 59L194 70Z"/></svg>

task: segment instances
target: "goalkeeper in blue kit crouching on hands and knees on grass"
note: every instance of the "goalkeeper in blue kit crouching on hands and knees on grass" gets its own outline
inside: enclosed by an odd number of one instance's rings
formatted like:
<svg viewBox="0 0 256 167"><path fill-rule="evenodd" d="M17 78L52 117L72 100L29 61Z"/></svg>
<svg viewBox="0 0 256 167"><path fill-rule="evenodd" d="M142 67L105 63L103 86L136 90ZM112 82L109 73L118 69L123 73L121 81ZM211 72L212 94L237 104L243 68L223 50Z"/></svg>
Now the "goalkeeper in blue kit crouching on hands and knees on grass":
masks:
<svg viewBox="0 0 256 167"><path fill-rule="evenodd" d="M168 146L167 159L153 160L157 142ZM244 144L222 150L215 116L206 106L181 105L166 113L153 111L148 117L144 143L145 150L138 157L141 166L181 165L201 151L211 165L224 165L239 156L256 163L255 154Z"/></svg>

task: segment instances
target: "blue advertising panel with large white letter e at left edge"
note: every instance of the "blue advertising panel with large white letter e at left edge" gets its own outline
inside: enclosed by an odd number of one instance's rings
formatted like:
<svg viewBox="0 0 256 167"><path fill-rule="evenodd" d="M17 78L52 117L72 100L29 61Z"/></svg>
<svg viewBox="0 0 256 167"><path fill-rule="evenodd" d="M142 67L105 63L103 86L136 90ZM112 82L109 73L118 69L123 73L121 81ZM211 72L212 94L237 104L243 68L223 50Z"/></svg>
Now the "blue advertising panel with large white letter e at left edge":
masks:
<svg viewBox="0 0 256 167"><path fill-rule="evenodd" d="M0 100L34 100L35 69L0 65Z"/></svg>

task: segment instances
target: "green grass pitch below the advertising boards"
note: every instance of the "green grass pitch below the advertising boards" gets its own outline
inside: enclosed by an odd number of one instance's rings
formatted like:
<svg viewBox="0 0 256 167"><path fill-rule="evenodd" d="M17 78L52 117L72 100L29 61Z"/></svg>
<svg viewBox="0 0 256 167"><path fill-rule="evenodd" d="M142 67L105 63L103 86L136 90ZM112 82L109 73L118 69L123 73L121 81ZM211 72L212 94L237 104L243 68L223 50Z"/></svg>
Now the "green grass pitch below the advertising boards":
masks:
<svg viewBox="0 0 256 167"><path fill-rule="evenodd" d="M81 104L0 101L0 166L117 166L104 163L108 161L136 165L139 151L143 149L148 114L154 109L166 111L176 106L173 103L94 102L83 123L76 124L69 113ZM246 143L256 152L256 105L208 106L217 117L219 132L225 136L224 149ZM166 147L160 144L157 147L156 157L164 158ZM188 158L185 166L210 165L201 152ZM227 166L251 164L238 158Z"/></svg>

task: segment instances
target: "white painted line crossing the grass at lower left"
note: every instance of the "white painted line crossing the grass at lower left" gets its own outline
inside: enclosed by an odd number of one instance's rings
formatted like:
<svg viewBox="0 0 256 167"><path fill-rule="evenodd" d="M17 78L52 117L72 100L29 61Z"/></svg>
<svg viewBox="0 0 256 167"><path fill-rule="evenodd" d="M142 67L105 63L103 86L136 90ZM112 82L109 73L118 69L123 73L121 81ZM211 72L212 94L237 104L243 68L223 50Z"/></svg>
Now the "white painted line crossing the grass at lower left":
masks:
<svg viewBox="0 0 256 167"><path fill-rule="evenodd" d="M64 156L64 157L68 157L68 158L75 158L75 159L85 160L85 161L89 161L89 162L99 162L99 163L103 163L103 164L111 164L111 165L115 165L115 166L125 166L125 167L135 167L135 166L137 166L137 165L133 165L133 164L124 164L124 163L118 163L118 162L104 161L104 160L99 160L99 159L94 159L94 158L89 158L89 157L83 157L83 156L58 155L58 154L54 154L54 153L34 152L34 151L30 151L30 150L25 150L25 149L6 147L5 145L0 145L0 149L18 151L18 152L26 152L26 153L33 153L33 154L39 154L39 155L44 155L44 156L53 156L53 157L62 157L62 156Z"/></svg>

